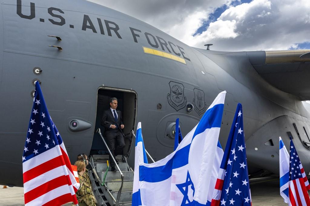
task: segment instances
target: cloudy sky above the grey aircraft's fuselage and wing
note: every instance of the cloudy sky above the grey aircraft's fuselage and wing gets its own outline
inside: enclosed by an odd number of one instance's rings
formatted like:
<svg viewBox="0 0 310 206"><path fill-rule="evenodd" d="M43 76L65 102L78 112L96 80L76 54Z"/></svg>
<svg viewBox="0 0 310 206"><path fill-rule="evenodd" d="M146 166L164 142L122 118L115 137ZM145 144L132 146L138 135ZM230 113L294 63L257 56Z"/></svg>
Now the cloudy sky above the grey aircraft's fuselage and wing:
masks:
<svg viewBox="0 0 310 206"><path fill-rule="evenodd" d="M221 51L310 49L310 0L90 0L187 45Z"/></svg>

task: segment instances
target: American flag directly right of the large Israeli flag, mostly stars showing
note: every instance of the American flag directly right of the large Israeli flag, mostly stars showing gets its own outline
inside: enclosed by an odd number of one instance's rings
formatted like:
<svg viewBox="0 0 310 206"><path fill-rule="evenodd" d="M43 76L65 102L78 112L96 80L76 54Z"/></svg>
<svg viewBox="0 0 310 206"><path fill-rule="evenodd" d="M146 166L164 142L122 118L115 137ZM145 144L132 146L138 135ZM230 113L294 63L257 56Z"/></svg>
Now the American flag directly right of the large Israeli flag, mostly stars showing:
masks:
<svg viewBox="0 0 310 206"><path fill-rule="evenodd" d="M211 205L251 205L242 105L238 103Z"/></svg>

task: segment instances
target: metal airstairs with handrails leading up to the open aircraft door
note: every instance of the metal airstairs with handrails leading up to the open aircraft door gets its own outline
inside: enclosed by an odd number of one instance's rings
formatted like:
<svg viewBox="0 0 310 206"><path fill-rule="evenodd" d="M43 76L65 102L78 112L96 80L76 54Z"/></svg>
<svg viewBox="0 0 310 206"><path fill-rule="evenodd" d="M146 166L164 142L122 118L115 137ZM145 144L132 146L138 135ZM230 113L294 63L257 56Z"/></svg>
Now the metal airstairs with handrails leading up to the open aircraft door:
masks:
<svg viewBox="0 0 310 206"><path fill-rule="evenodd" d="M105 146L108 148L100 129L97 130L100 134ZM131 131L135 137L134 131ZM108 152L111 151L108 148ZM153 158L146 151L148 158L154 162ZM93 193L100 206L131 206L132 188L134 180L134 171L128 165L125 156L116 156L116 172L110 172L108 168L109 155L92 155L90 156L89 164L92 170L88 170L91 179Z"/></svg>

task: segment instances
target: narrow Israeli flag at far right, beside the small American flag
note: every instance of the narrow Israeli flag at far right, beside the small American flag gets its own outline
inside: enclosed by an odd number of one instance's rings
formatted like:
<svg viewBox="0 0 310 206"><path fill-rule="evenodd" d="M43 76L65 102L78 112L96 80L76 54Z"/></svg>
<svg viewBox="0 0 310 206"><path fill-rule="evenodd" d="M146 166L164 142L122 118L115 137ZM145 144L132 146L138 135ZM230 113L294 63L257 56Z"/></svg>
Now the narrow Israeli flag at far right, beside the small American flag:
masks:
<svg viewBox="0 0 310 206"><path fill-rule="evenodd" d="M289 203L289 173L290 173L290 155L281 139L280 140L280 195L283 197L285 203Z"/></svg>

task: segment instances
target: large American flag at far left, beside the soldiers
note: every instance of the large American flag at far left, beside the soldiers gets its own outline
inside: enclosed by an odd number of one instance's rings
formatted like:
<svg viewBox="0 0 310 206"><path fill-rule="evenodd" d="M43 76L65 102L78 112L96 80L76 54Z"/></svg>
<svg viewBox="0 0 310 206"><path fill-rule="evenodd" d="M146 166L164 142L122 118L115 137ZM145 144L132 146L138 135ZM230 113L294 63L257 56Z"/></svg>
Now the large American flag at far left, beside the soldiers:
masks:
<svg viewBox="0 0 310 206"><path fill-rule="evenodd" d="M38 81L23 153L25 205L78 204L70 160Z"/></svg>

